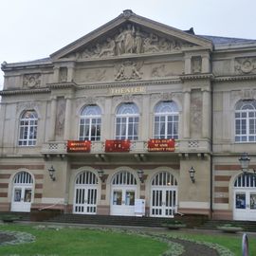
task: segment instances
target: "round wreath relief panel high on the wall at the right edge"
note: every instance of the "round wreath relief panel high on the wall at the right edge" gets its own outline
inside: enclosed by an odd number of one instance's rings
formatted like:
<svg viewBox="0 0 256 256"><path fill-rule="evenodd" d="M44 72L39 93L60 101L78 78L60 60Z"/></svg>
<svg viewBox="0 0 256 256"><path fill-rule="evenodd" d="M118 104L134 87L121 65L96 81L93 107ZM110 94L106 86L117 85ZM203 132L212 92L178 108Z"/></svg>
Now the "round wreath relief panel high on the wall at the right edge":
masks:
<svg viewBox="0 0 256 256"><path fill-rule="evenodd" d="M256 74L256 58L235 59L234 67L237 74Z"/></svg>

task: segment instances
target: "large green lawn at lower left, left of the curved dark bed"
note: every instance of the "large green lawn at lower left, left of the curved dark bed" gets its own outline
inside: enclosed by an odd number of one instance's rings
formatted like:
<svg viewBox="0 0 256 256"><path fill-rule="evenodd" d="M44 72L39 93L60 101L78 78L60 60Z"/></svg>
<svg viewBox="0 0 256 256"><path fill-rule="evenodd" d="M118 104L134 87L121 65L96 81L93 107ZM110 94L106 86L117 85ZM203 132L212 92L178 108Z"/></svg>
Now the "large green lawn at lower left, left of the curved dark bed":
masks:
<svg viewBox="0 0 256 256"><path fill-rule="evenodd" d="M31 233L36 241L0 246L0 255L155 256L168 248L167 244L148 237L97 229L33 229L15 224L0 226L0 230L4 229Z"/></svg>

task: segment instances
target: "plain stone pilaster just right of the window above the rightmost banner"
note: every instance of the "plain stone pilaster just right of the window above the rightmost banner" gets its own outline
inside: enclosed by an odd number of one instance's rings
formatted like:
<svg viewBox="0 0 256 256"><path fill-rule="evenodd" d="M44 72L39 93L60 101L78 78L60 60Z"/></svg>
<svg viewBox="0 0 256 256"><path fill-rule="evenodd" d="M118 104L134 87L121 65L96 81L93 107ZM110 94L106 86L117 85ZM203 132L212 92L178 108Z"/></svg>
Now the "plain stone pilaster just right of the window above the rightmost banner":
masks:
<svg viewBox="0 0 256 256"><path fill-rule="evenodd" d="M191 137L191 90L184 91L183 137Z"/></svg>

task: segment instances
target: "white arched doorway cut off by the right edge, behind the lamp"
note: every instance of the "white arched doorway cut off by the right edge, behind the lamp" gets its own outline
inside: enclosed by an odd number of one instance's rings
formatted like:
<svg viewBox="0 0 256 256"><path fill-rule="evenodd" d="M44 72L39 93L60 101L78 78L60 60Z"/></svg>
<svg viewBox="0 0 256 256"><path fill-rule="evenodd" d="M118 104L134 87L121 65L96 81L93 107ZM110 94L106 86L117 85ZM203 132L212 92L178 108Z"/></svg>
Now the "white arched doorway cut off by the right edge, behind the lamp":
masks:
<svg viewBox="0 0 256 256"><path fill-rule="evenodd" d="M256 221L256 176L240 174L234 182L234 220Z"/></svg>

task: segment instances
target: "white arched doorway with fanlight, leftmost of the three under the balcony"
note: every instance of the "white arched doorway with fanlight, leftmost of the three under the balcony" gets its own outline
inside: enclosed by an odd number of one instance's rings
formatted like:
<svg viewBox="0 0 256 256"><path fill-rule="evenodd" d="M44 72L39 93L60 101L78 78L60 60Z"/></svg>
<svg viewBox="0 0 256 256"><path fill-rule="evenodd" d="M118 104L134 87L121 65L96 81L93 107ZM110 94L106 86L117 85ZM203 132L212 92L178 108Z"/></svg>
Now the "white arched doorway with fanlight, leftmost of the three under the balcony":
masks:
<svg viewBox="0 0 256 256"><path fill-rule="evenodd" d="M75 182L73 212L78 214L96 214L98 177L92 172L79 174Z"/></svg>

